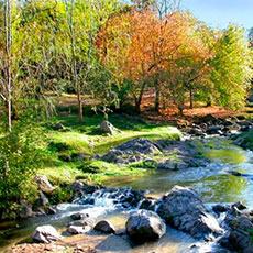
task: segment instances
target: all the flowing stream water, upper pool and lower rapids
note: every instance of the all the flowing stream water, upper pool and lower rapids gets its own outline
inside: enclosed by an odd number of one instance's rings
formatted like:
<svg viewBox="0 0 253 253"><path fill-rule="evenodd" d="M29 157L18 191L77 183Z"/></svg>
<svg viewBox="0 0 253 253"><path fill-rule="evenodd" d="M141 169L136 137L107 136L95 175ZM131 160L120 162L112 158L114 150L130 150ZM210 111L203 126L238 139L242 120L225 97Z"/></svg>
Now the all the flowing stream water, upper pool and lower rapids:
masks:
<svg viewBox="0 0 253 253"><path fill-rule="evenodd" d="M253 208L253 153L231 144L222 138L194 141L195 145L210 158L206 167L188 168L177 172L156 172L146 177L111 178L106 185L110 187L132 187L133 189L148 190L148 196L160 197L175 185L189 186L196 189L205 204L245 202ZM245 176L234 176L239 172ZM252 174L252 176L251 176ZM38 224L53 224L61 231L66 230L70 221L69 216L77 211L89 213L91 218L108 219L117 228L124 228L125 221L134 210L125 210L116 205L110 195L96 198L94 206L68 204L59 205L55 216L34 218L24 222L7 222L0 224L0 251L6 251L13 243L31 240L34 228ZM90 237L96 237L91 234ZM190 252L189 245L195 240L189 235L167 228L167 233L158 242L144 245L132 245L127 239L111 235L99 243L96 249L105 253L184 253ZM207 245L208 248L210 245ZM202 246L198 252L207 252Z"/></svg>

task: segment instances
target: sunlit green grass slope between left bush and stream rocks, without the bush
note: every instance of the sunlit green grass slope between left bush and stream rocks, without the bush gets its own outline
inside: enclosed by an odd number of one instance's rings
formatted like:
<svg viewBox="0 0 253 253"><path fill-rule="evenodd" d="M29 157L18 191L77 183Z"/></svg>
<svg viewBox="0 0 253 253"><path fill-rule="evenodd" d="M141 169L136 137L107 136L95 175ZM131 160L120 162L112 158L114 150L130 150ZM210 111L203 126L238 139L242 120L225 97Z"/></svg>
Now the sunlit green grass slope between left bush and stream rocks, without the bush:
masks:
<svg viewBox="0 0 253 253"><path fill-rule="evenodd" d="M123 175L144 175L146 169L133 166L119 167L101 161L90 161L95 154L106 154L110 148L133 138L148 138L151 140L180 138L180 132L176 128L168 125L151 125L138 120L130 121L124 118L109 118L121 133L108 136L98 132L97 127L102 121L102 117L86 117L84 123L77 121L76 116L57 117L44 127L48 136L48 142L66 144L67 148L56 151L48 148L51 161L38 173L48 176L55 184L70 183L76 178L84 178L91 183L102 183L111 176ZM54 131L51 125L61 122L68 131ZM61 155L86 154L87 161L82 162L63 162L58 158ZM151 169L148 169L151 170Z"/></svg>

